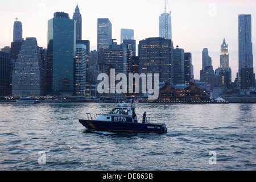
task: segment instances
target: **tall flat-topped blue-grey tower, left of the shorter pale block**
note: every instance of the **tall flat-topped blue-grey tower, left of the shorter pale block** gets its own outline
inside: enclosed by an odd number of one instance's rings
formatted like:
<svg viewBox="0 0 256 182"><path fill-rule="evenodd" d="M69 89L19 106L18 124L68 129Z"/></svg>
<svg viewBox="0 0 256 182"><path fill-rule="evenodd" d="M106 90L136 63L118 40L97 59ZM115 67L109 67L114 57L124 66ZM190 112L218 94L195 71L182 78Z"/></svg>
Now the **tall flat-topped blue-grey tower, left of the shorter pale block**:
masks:
<svg viewBox="0 0 256 182"><path fill-rule="evenodd" d="M112 44L112 23L108 18L98 18L97 48L109 48Z"/></svg>

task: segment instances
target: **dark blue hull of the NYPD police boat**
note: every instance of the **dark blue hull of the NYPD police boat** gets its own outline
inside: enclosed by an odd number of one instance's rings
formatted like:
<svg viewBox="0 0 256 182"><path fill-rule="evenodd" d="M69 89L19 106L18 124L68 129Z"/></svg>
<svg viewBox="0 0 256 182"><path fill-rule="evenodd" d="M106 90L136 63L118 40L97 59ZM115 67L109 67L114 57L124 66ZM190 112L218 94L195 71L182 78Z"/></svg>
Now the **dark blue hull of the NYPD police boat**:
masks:
<svg viewBox="0 0 256 182"><path fill-rule="evenodd" d="M158 123L133 123L133 122L114 122L114 121L95 121L79 119L79 122L87 129L92 131L111 131L111 132L136 132L136 133L167 133L165 124Z"/></svg>

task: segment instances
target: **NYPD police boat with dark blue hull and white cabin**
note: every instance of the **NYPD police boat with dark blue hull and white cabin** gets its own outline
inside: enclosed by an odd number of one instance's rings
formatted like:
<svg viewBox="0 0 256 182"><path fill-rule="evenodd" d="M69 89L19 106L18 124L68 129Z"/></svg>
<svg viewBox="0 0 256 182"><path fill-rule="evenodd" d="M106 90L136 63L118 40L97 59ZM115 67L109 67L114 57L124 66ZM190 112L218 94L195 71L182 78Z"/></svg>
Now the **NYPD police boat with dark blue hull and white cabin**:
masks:
<svg viewBox="0 0 256 182"><path fill-rule="evenodd" d="M133 104L117 105L104 115L87 113L87 119L79 119L79 122L92 131L167 133L164 123L151 123L151 118L146 116L137 118Z"/></svg>

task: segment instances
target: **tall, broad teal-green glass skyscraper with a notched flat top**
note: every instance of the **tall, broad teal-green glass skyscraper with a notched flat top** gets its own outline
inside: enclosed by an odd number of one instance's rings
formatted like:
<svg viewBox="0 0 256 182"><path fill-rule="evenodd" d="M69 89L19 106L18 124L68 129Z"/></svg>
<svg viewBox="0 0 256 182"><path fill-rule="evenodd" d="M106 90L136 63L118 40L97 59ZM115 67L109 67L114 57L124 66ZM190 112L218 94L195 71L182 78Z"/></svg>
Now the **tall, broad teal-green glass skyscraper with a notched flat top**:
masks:
<svg viewBox="0 0 256 182"><path fill-rule="evenodd" d="M76 21L56 12L48 20L47 90L54 96L72 96L75 92L74 61Z"/></svg>

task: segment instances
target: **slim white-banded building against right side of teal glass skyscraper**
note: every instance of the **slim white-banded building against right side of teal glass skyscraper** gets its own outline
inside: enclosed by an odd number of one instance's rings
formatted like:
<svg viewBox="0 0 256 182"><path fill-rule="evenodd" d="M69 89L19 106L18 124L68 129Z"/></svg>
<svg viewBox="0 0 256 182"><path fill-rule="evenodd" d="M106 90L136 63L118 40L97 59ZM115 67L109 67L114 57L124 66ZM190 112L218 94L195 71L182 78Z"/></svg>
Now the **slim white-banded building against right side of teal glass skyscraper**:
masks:
<svg viewBox="0 0 256 182"><path fill-rule="evenodd" d="M86 46L76 44L76 64L75 64L75 89L77 96L85 96L86 86Z"/></svg>

